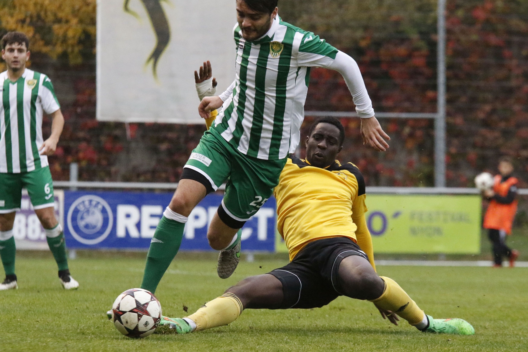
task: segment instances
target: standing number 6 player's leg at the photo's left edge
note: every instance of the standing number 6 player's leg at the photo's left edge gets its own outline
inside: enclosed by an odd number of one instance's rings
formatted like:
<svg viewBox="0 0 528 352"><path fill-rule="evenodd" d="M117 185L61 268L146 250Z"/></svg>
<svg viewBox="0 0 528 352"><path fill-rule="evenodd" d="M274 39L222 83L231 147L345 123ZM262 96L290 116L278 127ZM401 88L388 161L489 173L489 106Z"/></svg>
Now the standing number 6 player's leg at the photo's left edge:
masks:
<svg viewBox="0 0 528 352"><path fill-rule="evenodd" d="M0 214L0 256L4 265L5 279L0 283L0 290L17 289L15 274L15 239L13 237L13 224L15 212Z"/></svg>

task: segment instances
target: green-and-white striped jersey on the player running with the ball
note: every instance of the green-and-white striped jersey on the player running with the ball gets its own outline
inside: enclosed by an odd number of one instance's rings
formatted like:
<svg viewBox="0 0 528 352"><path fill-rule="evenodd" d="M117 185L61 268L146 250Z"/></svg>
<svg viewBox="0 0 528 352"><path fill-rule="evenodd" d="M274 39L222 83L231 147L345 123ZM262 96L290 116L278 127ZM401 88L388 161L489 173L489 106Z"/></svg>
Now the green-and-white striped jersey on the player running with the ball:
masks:
<svg viewBox="0 0 528 352"><path fill-rule="evenodd" d="M338 54L350 59L356 68L357 64L319 36L278 16L268 33L255 41L244 40L235 25L234 41L235 80L220 95L224 104L214 128L242 154L269 160L285 158L299 144L310 67L340 71L332 67ZM352 75L359 75L359 80L345 77L345 81L356 111L360 117L374 116L359 68Z"/></svg>

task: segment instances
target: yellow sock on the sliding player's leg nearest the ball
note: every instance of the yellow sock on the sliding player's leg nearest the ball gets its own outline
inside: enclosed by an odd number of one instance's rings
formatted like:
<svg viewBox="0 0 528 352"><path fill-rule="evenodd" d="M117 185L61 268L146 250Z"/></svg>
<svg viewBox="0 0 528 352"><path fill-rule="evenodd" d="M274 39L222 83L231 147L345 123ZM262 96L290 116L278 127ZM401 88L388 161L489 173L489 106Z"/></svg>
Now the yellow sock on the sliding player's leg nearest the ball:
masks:
<svg viewBox="0 0 528 352"><path fill-rule="evenodd" d="M242 302L233 293L225 293L222 296L205 303L205 306L197 310L188 319L196 324L196 331L228 325L242 314ZM184 318L184 319L185 319Z"/></svg>

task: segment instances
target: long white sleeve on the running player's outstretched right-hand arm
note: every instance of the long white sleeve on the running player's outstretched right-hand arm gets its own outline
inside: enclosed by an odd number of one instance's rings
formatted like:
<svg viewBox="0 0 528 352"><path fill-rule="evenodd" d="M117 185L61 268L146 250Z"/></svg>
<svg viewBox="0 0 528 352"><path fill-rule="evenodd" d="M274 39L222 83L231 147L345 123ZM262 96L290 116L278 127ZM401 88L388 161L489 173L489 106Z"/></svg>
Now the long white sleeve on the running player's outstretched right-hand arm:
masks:
<svg viewBox="0 0 528 352"><path fill-rule="evenodd" d="M374 116L372 101L366 91L365 82L363 82L363 77L356 61L344 52L338 51L335 59L329 62L326 68L341 73L345 79L346 86L352 94L357 115L363 119Z"/></svg>

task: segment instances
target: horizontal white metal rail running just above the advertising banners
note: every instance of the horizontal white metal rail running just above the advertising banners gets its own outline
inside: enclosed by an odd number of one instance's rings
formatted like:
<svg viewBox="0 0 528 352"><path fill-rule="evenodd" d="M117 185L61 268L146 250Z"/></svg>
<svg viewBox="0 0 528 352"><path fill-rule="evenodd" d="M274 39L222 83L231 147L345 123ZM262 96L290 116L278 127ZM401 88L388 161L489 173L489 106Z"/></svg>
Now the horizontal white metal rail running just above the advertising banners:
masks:
<svg viewBox="0 0 528 352"><path fill-rule="evenodd" d="M53 181L56 188L134 188L134 189L176 189L178 183L158 182L98 182L98 181ZM218 187L225 189L225 184ZM366 187L367 194L479 194L477 188L469 187ZM528 195L528 188L518 190Z"/></svg>

